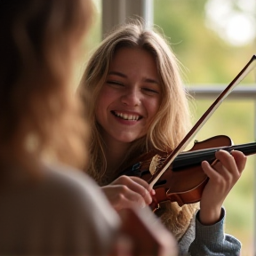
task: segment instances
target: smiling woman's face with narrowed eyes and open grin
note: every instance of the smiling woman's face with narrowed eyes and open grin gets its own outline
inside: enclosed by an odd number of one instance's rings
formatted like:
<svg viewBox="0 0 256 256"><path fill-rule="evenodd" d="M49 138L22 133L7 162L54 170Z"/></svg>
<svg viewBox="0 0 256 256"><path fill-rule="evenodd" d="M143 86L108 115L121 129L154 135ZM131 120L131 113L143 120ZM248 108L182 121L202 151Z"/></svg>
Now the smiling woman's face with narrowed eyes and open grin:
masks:
<svg viewBox="0 0 256 256"><path fill-rule="evenodd" d="M160 99L153 56L140 48L117 50L96 103L96 118L106 143L127 143L144 136Z"/></svg>

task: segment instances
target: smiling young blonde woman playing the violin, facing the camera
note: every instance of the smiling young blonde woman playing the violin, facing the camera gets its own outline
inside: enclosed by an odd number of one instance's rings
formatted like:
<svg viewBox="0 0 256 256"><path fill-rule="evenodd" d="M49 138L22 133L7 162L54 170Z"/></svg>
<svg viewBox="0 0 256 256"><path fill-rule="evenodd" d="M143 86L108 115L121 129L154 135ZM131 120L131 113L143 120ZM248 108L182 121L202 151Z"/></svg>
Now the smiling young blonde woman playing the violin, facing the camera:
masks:
<svg viewBox="0 0 256 256"><path fill-rule="evenodd" d="M97 180L116 211L147 207L156 193L139 177L120 176L124 168L151 149L170 153L190 128L178 63L163 36L131 22L110 32L84 71L79 92L85 90L95 99L88 106L92 140L85 171ZM179 255L240 252L240 242L224 233L222 203L241 176L246 157L239 151L230 155L220 150L216 158L213 166L202 164L209 181L199 211L198 204L180 207L175 202L163 202L161 211L156 211L179 242Z"/></svg>

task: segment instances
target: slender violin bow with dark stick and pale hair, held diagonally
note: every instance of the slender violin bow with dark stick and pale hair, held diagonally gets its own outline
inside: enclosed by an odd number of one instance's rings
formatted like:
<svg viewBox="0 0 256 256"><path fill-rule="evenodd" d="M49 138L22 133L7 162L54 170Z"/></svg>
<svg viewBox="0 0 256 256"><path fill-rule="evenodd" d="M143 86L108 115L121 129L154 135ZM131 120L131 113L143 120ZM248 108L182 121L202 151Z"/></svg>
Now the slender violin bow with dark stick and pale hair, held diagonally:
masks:
<svg viewBox="0 0 256 256"><path fill-rule="evenodd" d="M161 168L159 168L158 172L156 172L153 175L153 179L149 183L149 186L151 188L154 187L156 181L160 179L160 177L172 164L175 157L178 156L180 152L183 151L184 148L188 146L188 143L190 143L191 140L194 138L196 132L198 132L202 128L202 126L206 123L210 116L212 116L214 111L220 106L221 102L228 96L230 92L233 91L236 85L239 84L244 79L244 77L247 76L252 71L252 69L256 67L255 60L256 55L254 54L252 55L251 60L249 60L249 62L240 71L240 73L233 79L233 81L230 84L228 84L226 89L224 89L223 92L220 93L219 97L205 111L204 115L200 117L200 119L196 122L196 124L192 127L192 129L188 132L184 139L180 141L180 144L178 144L178 146L174 148L172 153L165 159L164 164L161 166Z"/></svg>

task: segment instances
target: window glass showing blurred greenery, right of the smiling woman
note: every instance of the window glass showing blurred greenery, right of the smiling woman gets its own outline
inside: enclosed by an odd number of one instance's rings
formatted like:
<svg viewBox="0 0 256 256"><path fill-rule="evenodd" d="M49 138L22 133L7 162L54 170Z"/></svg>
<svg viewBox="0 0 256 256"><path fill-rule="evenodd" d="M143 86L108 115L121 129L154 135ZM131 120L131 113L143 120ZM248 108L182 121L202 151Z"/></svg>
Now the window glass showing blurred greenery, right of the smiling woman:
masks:
<svg viewBox="0 0 256 256"><path fill-rule="evenodd" d="M194 86L224 89L235 78L256 53L255 19L255 0L154 1L154 23L167 36L184 65L188 89ZM256 88L255 85L253 71L237 87ZM234 144L255 141L256 97L228 98L196 134L196 140L224 134ZM191 103L194 123L214 100L197 100L195 95ZM224 204L228 213L226 232L242 242L244 256L253 254L255 156L248 156L244 173Z"/></svg>

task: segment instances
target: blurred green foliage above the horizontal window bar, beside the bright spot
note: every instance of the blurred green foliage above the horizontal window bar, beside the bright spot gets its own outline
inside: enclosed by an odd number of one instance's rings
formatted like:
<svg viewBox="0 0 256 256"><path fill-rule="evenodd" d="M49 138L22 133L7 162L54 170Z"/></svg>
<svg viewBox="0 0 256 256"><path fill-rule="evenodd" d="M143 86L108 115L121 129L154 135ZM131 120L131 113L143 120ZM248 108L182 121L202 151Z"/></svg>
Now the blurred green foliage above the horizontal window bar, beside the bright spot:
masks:
<svg viewBox="0 0 256 256"><path fill-rule="evenodd" d="M255 46L232 46L207 28L206 2L155 0L154 23L163 29L173 51L188 68L189 83L229 83L251 59Z"/></svg>

